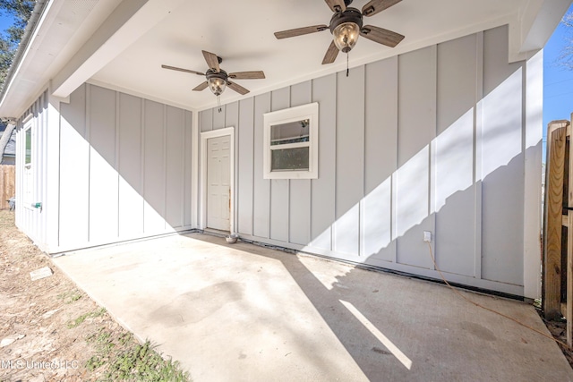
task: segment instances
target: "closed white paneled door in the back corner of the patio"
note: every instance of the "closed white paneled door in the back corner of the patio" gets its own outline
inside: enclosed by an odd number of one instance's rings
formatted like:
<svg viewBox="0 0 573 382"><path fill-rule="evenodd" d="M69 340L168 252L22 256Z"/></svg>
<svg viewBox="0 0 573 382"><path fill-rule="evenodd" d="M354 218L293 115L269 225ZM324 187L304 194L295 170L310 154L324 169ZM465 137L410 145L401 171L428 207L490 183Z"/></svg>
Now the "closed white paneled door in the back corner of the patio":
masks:
<svg viewBox="0 0 573 382"><path fill-rule="evenodd" d="M230 231L231 137L207 140L207 227Z"/></svg>

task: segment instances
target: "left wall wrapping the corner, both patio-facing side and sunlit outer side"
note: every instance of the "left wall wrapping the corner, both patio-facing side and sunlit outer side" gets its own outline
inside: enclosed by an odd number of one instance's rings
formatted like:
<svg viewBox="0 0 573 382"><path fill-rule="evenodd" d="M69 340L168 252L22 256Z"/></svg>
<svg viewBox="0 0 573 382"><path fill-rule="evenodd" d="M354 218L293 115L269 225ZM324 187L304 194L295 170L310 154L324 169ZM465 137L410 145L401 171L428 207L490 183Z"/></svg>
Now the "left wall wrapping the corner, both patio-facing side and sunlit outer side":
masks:
<svg viewBox="0 0 573 382"><path fill-rule="evenodd" d="M16 213L17 225L42 250L192 228L192 112L90 84L69 102L47 98L46 92L26 113L34 129L35 199L43 209L18 203Z"/></svg>

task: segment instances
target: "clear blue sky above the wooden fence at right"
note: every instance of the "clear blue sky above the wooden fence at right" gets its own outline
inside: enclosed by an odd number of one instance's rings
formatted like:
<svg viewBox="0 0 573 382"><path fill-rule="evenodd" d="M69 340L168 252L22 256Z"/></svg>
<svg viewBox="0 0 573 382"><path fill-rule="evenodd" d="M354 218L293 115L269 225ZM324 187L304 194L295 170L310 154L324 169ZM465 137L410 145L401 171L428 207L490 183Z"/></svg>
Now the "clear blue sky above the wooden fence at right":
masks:
<svg viewBox="0 0 573 382"><path fill-rule="evenodd" d="M573 13L573 4L567 13ZM543 152L547 145L547 124L570 120L573 113L573 69L559 64L560 53L571 40L573 28L560 24L543 49Z"/></svg>

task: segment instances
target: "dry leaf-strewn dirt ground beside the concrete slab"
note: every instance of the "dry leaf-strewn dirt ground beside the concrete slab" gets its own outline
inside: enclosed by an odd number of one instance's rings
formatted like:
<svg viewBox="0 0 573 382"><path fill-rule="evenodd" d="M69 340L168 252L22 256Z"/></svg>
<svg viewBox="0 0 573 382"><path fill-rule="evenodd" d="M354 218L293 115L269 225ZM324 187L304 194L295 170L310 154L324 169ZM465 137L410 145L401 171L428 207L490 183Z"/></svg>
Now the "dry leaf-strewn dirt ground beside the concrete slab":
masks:
<svg viewBox="0 0 573 382"><path fill-rule="evenodd" d="M30 272L44 267L40 274L51 275L32 281ZM135 369L149 365L134 354L149 354L153 371L170 377L137 377ZM0 382L187 380L176 362L162 361L18 231L13 213L0 210Z"/></svg>

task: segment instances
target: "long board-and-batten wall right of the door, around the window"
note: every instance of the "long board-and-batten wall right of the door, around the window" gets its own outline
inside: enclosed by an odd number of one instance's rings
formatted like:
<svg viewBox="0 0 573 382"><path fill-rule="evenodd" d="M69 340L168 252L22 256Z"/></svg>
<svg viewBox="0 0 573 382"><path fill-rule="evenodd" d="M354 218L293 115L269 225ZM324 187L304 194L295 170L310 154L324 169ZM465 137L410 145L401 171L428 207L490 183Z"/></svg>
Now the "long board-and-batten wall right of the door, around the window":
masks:
<svg viewBox="0 0 573 382"><path fill-rule="evenodd" d="M235 127L236 233L440 278L430 231L450 281L524 295L539 203L524 205L527 64L508 44L503 26L201 111L200 132ZM263 114L311 102L318 179L263 179Z"/></svg>

